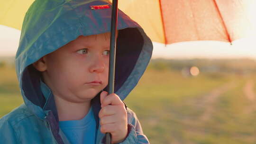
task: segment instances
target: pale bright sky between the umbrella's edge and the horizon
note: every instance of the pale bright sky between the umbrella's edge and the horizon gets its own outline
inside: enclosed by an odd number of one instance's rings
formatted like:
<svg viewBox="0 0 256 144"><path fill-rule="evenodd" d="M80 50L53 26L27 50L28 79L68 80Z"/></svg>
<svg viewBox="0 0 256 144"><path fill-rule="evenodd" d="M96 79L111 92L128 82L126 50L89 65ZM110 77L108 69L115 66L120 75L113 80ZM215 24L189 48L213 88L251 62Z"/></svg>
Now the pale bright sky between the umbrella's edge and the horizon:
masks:
<svg viewBox="0 0 256 144"><path fill-rule="evenodd" d="M15 56L20 31L0 25L0 56ZM256 60L256 36L239 39L232 45L219 41L193 41L164 45L153 42L152 58L252 58Z"/></svg>

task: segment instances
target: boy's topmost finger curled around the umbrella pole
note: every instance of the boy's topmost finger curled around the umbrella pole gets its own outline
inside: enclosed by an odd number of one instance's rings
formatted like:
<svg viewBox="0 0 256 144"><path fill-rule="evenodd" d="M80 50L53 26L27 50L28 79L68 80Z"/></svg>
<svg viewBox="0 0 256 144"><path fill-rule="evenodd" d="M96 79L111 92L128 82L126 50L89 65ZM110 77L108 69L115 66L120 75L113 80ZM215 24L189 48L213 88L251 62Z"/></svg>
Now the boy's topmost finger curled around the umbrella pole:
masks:
<svg viewBox="0 0 256 144"><path fill-rule="evenodd" d="M107 105L122 105L124 104L122 102L122 100L119 98L118 95L112 93L110 95L108 95L107 97L105 97L104 99L102 99L101 102L101 108L107 106Z"/></svg>

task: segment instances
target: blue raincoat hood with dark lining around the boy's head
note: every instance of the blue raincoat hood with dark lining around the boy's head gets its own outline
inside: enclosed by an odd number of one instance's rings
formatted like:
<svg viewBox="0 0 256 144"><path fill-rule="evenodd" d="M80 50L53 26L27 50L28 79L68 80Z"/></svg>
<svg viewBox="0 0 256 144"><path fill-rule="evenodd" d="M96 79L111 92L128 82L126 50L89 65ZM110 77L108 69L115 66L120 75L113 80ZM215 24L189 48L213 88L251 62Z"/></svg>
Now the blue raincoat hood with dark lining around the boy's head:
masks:
<svg viewBox="0 0 256 144"><path fill-rule="evenodd" d="M110 9L90 7L106 4ZM54 98L43 96L40 72L32 63L78 36L110 32L110 24L108 0L35 0L24 18L15 60L20 91L32 113L45 119L51 112L57 119ZM143 29L120 10L118 30L114 91L123 100L146 70L153 45Z"/></svg>

